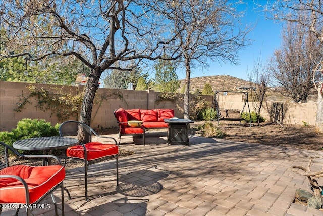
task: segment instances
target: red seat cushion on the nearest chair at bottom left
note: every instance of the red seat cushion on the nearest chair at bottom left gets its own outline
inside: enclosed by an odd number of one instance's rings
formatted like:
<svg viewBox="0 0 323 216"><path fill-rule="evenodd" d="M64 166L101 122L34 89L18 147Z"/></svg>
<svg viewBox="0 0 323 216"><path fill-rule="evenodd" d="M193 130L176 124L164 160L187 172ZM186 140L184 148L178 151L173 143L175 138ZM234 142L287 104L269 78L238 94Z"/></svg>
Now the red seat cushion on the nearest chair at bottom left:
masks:
<svg viewBox="0 0 323 216"><path fill-rule="evenodd" d="M0 175L15 175L26 181L29 188L30 204L35 203L50 189L65 178L64 166L16 165L0 170ZM25 188L13 178L0 178L0 203L26 204Z"/></svg>

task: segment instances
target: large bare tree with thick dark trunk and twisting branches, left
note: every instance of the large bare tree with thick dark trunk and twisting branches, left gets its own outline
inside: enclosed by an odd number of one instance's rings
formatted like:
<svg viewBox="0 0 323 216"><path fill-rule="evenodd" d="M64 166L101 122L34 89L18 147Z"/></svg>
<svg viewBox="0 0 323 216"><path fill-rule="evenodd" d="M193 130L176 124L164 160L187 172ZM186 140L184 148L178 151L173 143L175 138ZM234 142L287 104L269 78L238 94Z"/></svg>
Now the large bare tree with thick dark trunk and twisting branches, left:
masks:
<svg viewBox="0 0 323 216"><path fill-rule="evenodd" d="M166 3L157 5L163 4ZM0 41L0 59L25 56L29 61L38 61L55 55L80 59L90 73L79 120L90 124L104 70L131 71L132 68L121 68L116 63L155 60L166 52L170 59L179 57L180 52L174 47L177 43L172 42L178 32L165 25L172 11L161 13L155 5L152 0L3 0L0 23L8 39Z"/></svg>

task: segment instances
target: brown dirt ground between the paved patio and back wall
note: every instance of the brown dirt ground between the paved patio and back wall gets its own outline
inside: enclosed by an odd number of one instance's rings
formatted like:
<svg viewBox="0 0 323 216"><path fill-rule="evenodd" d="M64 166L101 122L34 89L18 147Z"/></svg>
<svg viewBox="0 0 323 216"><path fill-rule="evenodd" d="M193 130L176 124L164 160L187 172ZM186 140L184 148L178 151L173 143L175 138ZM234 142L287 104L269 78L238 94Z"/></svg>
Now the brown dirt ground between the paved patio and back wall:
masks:
<svg viewBox="0 0 323 216"><path fill-rule="evenodd" d="M205 122L191 124L190 133L201 133L198 128ZM213 122L218 125L218 122ZM323 134L315 132L314 126L278 125L262 123L260 126L235 122L221 121L219 129L226 134L224 139L247 143L288 146L297 149L323 151ZM100 134L117 134L117 128L104 129Z"/></svg>

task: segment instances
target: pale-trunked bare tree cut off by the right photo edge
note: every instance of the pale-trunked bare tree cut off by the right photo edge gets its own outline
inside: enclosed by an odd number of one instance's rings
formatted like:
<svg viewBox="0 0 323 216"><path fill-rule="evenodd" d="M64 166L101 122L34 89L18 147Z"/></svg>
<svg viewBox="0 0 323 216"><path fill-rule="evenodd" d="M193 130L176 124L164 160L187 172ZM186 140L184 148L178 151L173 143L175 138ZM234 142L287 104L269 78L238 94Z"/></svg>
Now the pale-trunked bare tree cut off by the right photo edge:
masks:
<svg viewBox="0 0 323 216"><path fill-rule="evenodd" d="M268 18L297 22L307 27L312 32L320 45L323 44L323 0L308 0L308 1L276 1L273 4L265 5L265 10L268 12ZM320 67L321 62L317 63ZM319 69L319 68L318 68ZM313 70L314 83L319 82L322 85L322 80L318 80L319 70ZM317 111L315 127L317 131L323 132L323 95L320 93L320 88L317 88Z"/></svg>

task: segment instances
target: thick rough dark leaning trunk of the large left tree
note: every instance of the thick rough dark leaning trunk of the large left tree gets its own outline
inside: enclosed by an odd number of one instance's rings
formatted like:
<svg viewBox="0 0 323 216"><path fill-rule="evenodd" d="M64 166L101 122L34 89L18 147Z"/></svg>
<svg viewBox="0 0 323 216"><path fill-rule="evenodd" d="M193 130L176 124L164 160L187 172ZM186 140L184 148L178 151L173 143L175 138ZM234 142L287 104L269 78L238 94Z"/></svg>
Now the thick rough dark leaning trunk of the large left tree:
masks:
<svg viewBox="0 0 323 216"><path fill-rule="evenodd" d="M91 125L91 115L95 94L99 88L98 82L100 79L100 72L100 68L94 68L91 70L91 74L88 77L84 92L83 104L80 113L80 122L89 126Z"/></svg>

